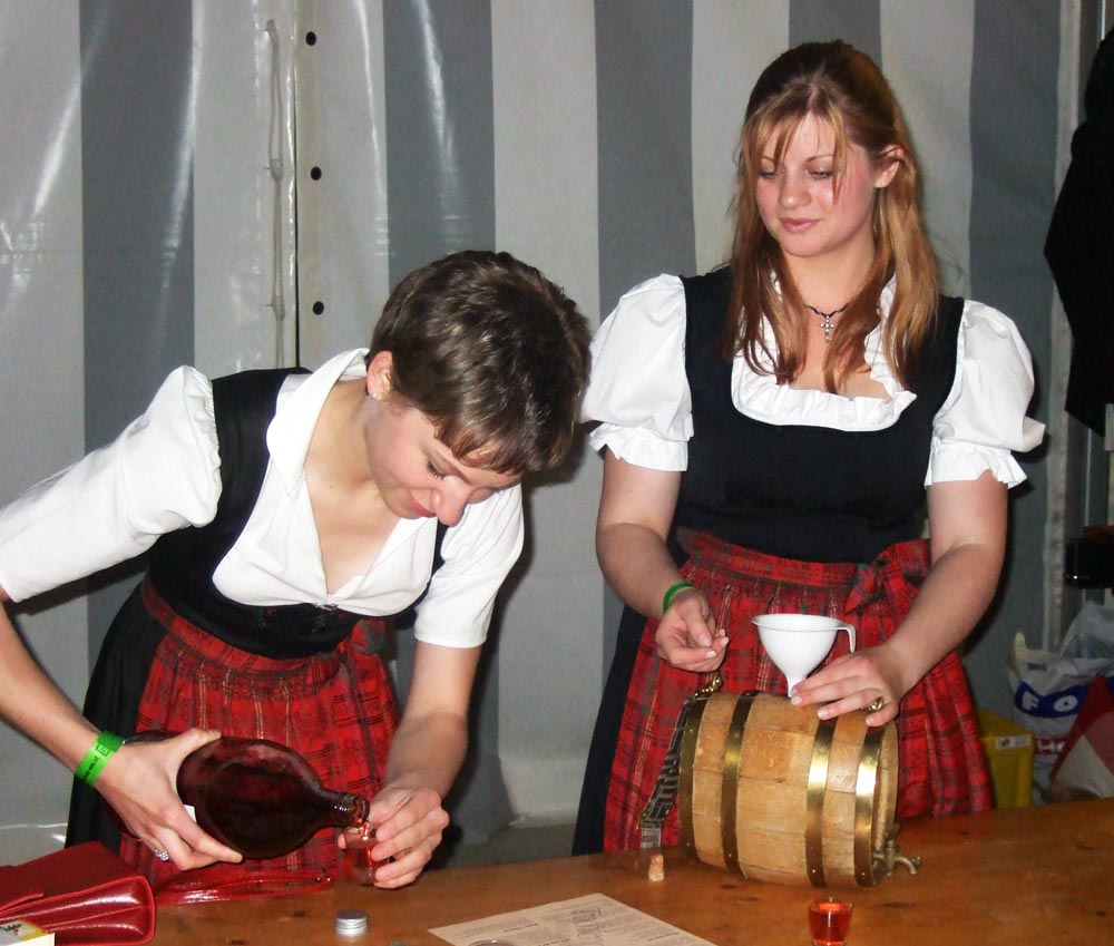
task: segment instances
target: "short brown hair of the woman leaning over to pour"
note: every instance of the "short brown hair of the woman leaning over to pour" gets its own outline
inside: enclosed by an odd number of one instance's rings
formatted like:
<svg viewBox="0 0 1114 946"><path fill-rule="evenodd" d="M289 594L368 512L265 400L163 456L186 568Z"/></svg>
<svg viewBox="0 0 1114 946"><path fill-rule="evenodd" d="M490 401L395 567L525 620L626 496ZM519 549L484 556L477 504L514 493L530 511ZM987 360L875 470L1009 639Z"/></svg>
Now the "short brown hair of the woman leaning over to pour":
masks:
<svg viewBox="0 0 1114 946"><path fill-rule="evenodd" d="M589 331L576 304L510 253L466 250L391 293L370 361L462 460L505 474L558 466L579 422Z"/></svg>

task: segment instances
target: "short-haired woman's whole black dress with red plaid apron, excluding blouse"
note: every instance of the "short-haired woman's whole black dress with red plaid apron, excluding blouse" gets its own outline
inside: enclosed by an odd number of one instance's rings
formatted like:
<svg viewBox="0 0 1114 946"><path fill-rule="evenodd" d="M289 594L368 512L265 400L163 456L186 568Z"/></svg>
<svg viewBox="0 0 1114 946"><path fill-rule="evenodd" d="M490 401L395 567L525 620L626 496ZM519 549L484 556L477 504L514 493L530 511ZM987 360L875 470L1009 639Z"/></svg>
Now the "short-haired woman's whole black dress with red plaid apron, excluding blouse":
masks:
<svg viewBox="0 0 1114 946"><path fill-rule="evenodd" d="M124 737L202 726L273 740L301 753L325 788L370 799L399 719L380 657L390 620L312 604L251 607L222 595L212 581L254 508L268 460L267 426L289 373L214 380L222 459L216 516L207 526L162 536L148 553L147 574L101 647L85 714ZM121 831L101 797L75 780L66 842L88 840L118 851L153 882L179 872ZM335 876L338 857L334 829L326 828L289 855L238 868L320 868Z"/></svg>

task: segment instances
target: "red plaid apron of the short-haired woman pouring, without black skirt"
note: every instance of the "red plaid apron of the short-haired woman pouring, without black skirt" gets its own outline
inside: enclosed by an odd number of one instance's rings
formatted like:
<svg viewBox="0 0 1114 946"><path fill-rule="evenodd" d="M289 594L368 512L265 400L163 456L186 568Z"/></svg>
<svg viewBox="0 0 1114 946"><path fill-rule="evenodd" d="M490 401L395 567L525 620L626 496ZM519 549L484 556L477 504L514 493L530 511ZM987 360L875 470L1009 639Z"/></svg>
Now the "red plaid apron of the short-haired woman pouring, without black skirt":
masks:
<svg viewBox="0 0 1114 946"><path fill-rule="evenodd" d="M271 660L190 624L149 583L144 584L144 604L167 633L144 686L137 732L202 726L225 735L271 739L304 755L326 788L369 799L379 791L387 748L398 726L394 691L375 653L383 621L358 622L332 653ZM120 856L153 882L179 872L126 833ZM319 831L284 857L245 860L241 867L245 871L325 868L335 877L334 829Z"/></svg>

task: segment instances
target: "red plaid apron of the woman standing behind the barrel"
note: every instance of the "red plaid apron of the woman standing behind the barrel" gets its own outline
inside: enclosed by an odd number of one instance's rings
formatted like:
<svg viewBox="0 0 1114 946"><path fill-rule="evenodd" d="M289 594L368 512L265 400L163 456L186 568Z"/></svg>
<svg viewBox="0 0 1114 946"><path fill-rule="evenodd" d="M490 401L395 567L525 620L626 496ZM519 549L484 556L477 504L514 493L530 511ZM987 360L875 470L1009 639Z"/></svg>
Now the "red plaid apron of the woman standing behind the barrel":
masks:
<svg viewBox="0 0 1114 946"><path fill-rule="evenodd" d="M784 693L785 677L759 642L751 618L766 613L824 614L853 624L859 648L890 637L928 573L928 544L898 543L870 565L779 558L700 535L682 574L707 595L730 643L720 673L727 692ZM607 792L605 850L639 843L638 821L662 770L682 703L712 676L657 656L647 621L627 690ZM847 653L840 634L829 660ZM990 807L990 780L967 677L958 655L944 657L901 700L897 817L957 815ZM677 809L662 843L680 843Z"/></svg>

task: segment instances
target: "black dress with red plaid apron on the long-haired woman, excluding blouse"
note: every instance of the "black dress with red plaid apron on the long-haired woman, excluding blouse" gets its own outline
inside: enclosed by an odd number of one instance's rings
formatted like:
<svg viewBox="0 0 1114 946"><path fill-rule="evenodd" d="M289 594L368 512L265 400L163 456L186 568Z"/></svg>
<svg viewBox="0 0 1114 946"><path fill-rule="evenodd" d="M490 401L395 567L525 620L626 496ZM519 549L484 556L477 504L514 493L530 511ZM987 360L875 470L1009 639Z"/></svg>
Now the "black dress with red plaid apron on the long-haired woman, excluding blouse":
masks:
<svg viewBox="0 0 1114 946"><path fill-rule="evenodd" d="M932 423L955 378L962 300L941 296L910 384L916 399L887 428L844 431L747 417L719 340L726 269L683 279L685 374L693 436L670 548L730 637L729 691L784 693L751 620L810 613L854 625L858 646L900 626L928 572L920 538ZM589 749L574 854L639 846L638 821L684 700L707 676L656 655L657 621L624 611ZM846 652L843 635L833 656ZM948 654L901 700L900 818L989 807L989 776L962 665ZM678 842L677 813L663 843Z"/></svg>

